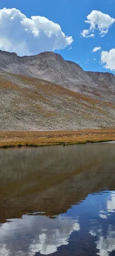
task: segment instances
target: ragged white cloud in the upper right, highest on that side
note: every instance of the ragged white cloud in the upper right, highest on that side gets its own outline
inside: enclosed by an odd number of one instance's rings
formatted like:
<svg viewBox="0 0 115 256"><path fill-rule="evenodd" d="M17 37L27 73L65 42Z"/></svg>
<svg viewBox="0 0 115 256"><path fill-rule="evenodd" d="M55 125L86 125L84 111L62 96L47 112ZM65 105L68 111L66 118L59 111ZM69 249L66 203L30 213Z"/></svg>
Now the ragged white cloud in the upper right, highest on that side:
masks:
<svg viewBox="0 0 115 256"><path fill-rule="evenodd" d="M109 27L115 22L115 19L111 18L108 14L95 10L91 11L86 18L85 23L89 24L89 29L81 32L83 37L94 36L94 32L97 29L101 36L105 36L108 33Z"/></svg>

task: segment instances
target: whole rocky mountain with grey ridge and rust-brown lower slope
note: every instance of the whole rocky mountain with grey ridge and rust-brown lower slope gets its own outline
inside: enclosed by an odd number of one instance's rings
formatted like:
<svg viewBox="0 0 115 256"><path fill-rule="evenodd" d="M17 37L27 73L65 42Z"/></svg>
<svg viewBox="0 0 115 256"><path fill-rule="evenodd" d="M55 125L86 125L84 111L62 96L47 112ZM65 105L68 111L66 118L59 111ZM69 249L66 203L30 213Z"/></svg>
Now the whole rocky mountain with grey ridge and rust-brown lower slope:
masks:
<svg viewBox="0 0 115 256"><path fill-rule="evenodd" d="M115 76L85 72L61 55L0 51L1 131L113 127Z"/></svg>

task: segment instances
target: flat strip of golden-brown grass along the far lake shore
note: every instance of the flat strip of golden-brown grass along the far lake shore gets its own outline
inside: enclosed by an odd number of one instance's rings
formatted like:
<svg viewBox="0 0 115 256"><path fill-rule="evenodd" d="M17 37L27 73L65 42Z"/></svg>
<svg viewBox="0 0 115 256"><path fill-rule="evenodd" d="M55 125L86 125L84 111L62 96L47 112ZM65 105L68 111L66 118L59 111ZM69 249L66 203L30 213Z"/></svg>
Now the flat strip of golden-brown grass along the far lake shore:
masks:
<svg viewBox="0 0 115 256"><path fill-rule="evenodd" d="M115 141L115 128L80 131L0 131L0 148L74 145Z"/></svg>

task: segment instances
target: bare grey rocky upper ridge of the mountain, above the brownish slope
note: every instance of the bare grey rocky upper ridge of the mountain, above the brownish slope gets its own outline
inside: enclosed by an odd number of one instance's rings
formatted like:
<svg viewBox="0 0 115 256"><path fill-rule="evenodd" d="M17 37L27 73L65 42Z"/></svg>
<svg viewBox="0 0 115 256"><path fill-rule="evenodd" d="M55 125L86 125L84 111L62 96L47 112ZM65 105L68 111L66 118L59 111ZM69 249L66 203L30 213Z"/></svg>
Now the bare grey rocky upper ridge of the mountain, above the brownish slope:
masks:
<svg viewBox="0 0 115 256"><path fill-rule="evenodd" d="M85 72L78 64L66 61L61 55L43 52L19 57L16 53L0 51L1 71L55 82L77 92L90 93L98 86L115 88L115 76L110 73Z"/></svg>

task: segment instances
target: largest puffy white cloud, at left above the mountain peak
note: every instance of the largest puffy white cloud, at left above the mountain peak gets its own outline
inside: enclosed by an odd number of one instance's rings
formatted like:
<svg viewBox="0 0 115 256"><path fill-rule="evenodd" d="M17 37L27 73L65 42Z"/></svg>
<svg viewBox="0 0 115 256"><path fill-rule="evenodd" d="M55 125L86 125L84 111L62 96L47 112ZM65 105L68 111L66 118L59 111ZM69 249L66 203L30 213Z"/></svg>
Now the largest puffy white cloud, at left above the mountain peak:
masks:
<svg viewBox="0 0 115 256"><path fill-rule="evenodd" d="M61 27L48 18L27 18L15 8L0 10L1 50L31 55L64 49L72 42L72 36L65 36Z"/></svg>

